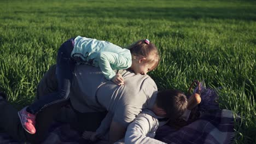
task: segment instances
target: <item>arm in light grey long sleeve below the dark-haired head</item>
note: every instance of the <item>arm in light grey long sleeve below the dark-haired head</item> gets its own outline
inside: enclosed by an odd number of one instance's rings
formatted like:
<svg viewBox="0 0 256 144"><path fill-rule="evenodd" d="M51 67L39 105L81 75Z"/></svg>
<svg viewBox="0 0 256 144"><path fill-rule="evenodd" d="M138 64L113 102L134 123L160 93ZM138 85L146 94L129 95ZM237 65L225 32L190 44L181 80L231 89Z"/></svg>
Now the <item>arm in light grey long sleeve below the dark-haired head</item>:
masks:
<svg viewBox="0 0 256 144"><path fill-rule="evenodd" d="M141 113L127 127L125 143L164 144L164 142L154 139L155 131L157 128L158 120L156 118Z"/></svg>

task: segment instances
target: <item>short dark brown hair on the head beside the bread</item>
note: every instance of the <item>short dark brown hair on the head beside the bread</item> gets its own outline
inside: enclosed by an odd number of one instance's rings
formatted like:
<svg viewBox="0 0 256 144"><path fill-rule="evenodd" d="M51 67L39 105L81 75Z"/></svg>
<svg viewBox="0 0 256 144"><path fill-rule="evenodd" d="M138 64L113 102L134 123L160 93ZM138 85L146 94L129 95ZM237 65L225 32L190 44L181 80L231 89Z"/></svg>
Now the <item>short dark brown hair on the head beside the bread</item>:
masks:
<svg viewBox="0 0 256 144"><path fill-rule="evenodd" d="M176 119L181 117L187 109L188 100L183 92L168 89L158 92L156 105L165 110L166 117Z"/></svg>

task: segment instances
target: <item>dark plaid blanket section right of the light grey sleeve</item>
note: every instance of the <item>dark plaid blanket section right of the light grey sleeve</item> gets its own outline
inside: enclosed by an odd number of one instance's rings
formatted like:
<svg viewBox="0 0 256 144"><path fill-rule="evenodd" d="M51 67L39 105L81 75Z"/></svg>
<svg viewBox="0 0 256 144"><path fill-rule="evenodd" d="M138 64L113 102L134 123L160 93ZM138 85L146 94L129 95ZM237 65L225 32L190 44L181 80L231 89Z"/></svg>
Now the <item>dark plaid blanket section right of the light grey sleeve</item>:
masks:
<svg viewBox="0 0 256 144"><path fill-rule="evenodd" d="M234 139L232 111L204 113L179 130L164 125L158 129L155 139L166 143L231 143Z"/></svg>

